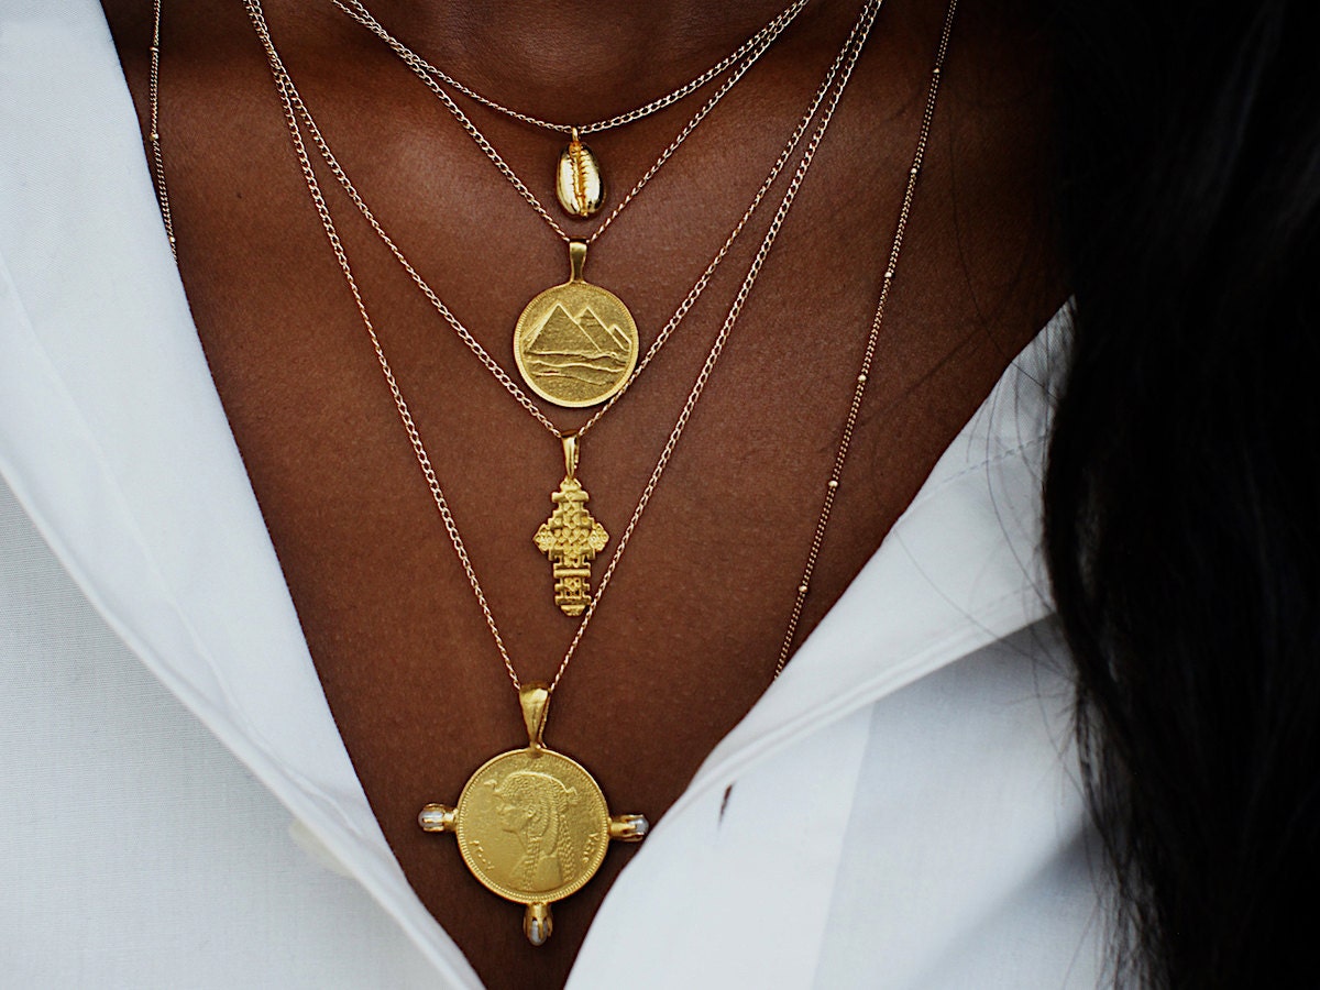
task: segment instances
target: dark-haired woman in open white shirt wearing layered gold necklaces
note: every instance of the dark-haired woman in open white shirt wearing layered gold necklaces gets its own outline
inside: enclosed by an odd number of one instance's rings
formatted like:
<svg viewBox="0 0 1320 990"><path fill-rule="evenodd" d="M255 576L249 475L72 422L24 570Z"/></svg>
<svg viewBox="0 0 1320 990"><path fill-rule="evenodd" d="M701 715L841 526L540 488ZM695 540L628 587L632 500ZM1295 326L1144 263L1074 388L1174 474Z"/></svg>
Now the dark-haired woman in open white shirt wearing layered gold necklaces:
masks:
<svg viewBox="0 0 1320 990"><path fill-rule="evenodd" d="M107 15L150 148L150 12L124 7ZM605 24L507 5L371 13L491 99L595 120L673 90L779 9L651 5ZM1288 405L1298 389L1266 391L1263 368L1275 374L1280 351L1300 367L1287 348L1305 346L1296 327L1313 310L1288 279L1315 231L1303 180L1316 144L1305 115L1276 128L1269 117L1294 106L1274 87L1298 91L1270 67L1302 70L1287 62L1287 8L1262 8L1254 30L1220 25L1242 51L1225 82L1222 49L1205 48L1201 65L1203 49L1160 33L1150 11L1154 55L1133 62L1067 13L968 8L940 65L945 5L886 5L727 348L711 342L809 144L690 322L583 436L589 508L614 541L593 562L597 587L636 492L653 465L664 475L568 667L577 620L556 609L532 535L574 458L564 463L471 359L318 164L351 259L338 263L285 114L300 133L308 123L297 103L281 108L272 69L288 70L381 226L510 372L510 329L562 279L562 246L360 25L329 4L248 13L178 5L164 17L158 128L195 331L96 11L13 15L13 36L32 44L12 49L24 98L5 125L24 153L21 181L5 183L18 191L7 193L0 420L11 543L24 548L13 557L30 573L11 593L22 801L7 874L36 919L15 933L16 985L77 973L110 986L554 986L572 969L585 986L1086 986L1129 965L1200 985L1259 973L1262 958L1288 964L1272 940L1295 921L1265 906L1284 874L1312 870L1313 822L1279 780L1308 777L1271 743L1295 733L1294 751L1313 748L1313 524L1309 490L1288 475L1299 459L1259 438L1276 445L1279 417L1311 414ZM857 18L857 7L797 13L591 247L586 275L624 297L642 348L747 210ZM86 78L50 61L65 50ZM1163 94L1133 74L1142 66L1175 69L1179 84ZM591 139L614 202L701 99ZM546 161L562 140L469 110L549 202ZM1206 135L1236 143L1201 164ZM1291 198L1247 209L1271 195ZM554 216L572 235L599 223ZM1253 244L1278 256L1239 257ZM887 268L878 356L863 366ZM1076 338L1038 337L1069 293ZM1279 317L1262 323L1262 312ZM1230 341L1246 326L1279 339L1214 343L1185 374L1183 335L1222 327ZM1051 659L1065 652L1031 564L1045 387L1065 346L1048 548L1094 713L1081 752L1105 846L1088 840L1067 665ZM1259 372L1257 354L1270 355ZM719 366L693 400L711 355ZM383 370L407 396L466 561ZM1206 401L1217 374L1259 418ZM686 430L657 462L685 397ZM564 432L590 414L550 409ZM1237 470L1222 471L1220 445ZM837 504L808 581L830 480ZM1250 529L1229 521L1243 519ZM797 601L796 652L767 690ZM483 760L523 744L496 630L512 680L564 673L545 742L582 760L611 813L656 825L640 846L611 843L535 948L520 908L473 882L479 858L416 825L418 808L461 805ZM1302 714L1275 715L1283 704ZM281 803L347 879L293 849ZM58 847L57 812L88 808L90 849ZM1271 830L1283 873L1250 869ZM1100 946L1130 929L1097 907L1102 849L1139 939L1107 969ZM74 879L90 895L81 911L69 908Z"/></svg>

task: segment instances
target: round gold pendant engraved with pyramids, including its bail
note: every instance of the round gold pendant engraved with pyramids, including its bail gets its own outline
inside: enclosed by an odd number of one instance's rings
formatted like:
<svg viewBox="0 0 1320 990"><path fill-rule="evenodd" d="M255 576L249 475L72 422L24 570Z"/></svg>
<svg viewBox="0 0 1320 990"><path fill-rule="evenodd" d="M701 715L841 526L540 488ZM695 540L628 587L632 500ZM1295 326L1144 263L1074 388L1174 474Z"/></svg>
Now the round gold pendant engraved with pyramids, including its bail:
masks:
<svg viewBox="0 0 1320 990"><path fill-rule="evenodd" d="M569 280L527 304L513 360L527 387L569 408L603 403L638 366L638 325L612 292L582 279L586 242L569 242Z"/></svg>

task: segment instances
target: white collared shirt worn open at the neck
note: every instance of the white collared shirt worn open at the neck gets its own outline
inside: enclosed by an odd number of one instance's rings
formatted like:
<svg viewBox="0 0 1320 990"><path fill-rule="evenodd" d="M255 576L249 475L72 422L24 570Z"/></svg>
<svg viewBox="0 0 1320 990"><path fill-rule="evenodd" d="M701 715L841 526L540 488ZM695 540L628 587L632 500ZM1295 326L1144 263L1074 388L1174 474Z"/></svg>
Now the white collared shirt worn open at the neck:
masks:
<svg viewBox="0 0 1320 990"><path fill-rule="evenodd" d="M0 986L477 986L335 733L99 8L0 0ZM572 986L1096 983L1035 552L1059 331L642 845Z"/></svg>

